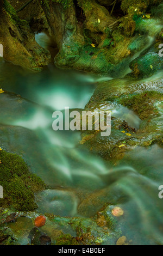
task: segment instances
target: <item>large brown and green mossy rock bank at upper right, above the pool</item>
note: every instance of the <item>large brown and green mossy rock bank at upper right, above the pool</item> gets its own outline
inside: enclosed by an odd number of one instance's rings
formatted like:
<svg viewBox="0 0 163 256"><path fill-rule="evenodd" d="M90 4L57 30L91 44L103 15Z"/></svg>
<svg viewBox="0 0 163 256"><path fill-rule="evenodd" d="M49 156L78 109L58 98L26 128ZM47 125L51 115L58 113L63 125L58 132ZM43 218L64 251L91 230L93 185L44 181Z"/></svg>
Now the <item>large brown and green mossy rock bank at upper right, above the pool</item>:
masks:
<svg viewBox="0 0 163 256"><path fill-rule="evenodd" d="M110 15L104 2L41 1L53 39L59 48L54 59L57 66L113 77L123 76L122 66L128 66L135 54L139 55L153 43L148 35L154 38L161 32L161 17L156 16L158 9L155 9L153 18L146 15L147 8L156 1L131 1L129 8L124 0L115 10L121 13L119 19ZM107 2L109 5L112 3ZM156 29L153 29L154 26ZM137 76L139 67L136 69L135 64L131 64L130 68Z"/></svg>

